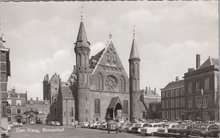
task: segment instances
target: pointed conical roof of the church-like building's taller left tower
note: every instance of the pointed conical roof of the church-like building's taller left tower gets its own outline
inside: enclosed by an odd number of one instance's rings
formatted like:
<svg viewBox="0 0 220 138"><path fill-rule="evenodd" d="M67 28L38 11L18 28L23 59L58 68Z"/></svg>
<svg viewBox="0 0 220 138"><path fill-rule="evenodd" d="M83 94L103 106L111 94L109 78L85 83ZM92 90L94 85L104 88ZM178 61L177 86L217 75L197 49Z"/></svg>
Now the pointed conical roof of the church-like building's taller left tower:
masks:
<svg viewBox="0 0 220 138"><path fill-rule="evenodd" d="M90 43L87 40L84 23L81 21L79 26L79 32L76 40L76 47L89 47Z"/></svg>

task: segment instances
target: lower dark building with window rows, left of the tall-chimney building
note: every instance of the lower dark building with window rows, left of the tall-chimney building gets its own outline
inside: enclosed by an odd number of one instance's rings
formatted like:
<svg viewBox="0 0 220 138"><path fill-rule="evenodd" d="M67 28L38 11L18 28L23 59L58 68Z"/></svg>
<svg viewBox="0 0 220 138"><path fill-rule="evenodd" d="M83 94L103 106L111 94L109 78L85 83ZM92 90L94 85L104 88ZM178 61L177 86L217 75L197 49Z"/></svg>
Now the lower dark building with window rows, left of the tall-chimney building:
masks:
<svg viewBox="0 0 220 138"><path fill-rule="evenodd" d="M162 118L180 120L185 118L184 80L176 77L161 89Z"/></svg>

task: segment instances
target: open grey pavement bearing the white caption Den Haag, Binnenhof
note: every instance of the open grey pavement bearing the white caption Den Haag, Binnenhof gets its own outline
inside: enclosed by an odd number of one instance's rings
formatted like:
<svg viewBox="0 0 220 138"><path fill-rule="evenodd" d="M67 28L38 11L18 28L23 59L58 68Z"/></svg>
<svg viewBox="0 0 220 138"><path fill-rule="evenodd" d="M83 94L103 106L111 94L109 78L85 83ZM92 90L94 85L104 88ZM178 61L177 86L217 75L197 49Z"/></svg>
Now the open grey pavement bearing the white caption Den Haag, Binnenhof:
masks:
<svg viewBox="0 0 220 138"><path fill-rule="evenodd" d="M13 128L10 138L157 138L137 134L119 133L63 126L24 125Z"/></svg>

